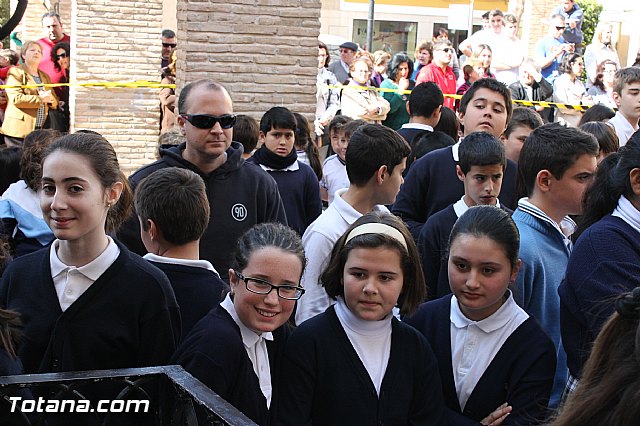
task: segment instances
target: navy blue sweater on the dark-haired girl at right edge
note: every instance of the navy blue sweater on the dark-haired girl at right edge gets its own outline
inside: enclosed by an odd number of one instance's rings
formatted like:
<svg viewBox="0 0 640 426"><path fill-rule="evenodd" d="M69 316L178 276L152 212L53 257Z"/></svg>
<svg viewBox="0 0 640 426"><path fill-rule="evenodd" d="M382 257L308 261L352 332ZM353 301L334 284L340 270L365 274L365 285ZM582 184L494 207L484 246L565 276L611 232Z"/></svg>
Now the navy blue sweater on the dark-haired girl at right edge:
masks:
<svg viewBox="0 0 640 426"><path fill-rule="evenodd" d="M567 365L580 377L591 344L620 293L640 285L640 233L607 215L578 238L560 294L560 332Z"/></svg>

